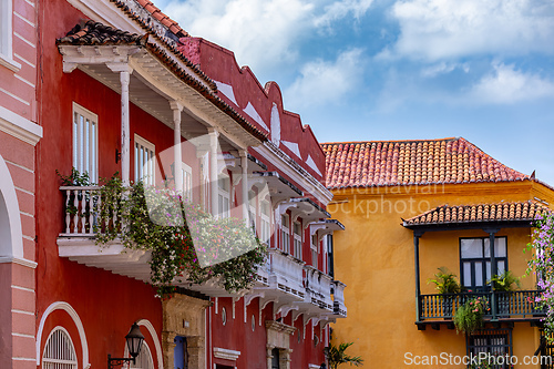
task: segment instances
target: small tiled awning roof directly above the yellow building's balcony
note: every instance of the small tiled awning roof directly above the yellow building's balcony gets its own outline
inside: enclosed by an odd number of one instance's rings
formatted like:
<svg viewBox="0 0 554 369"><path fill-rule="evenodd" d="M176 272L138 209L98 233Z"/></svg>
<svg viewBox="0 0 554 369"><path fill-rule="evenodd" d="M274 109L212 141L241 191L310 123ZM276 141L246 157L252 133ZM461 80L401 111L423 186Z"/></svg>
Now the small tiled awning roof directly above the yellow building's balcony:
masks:
<svg viewBox="0 0 554 369"><path fill-rule="evenodd" d="M536 215L552 212L547 206L535 202L514 202L496 204L438 206L403 222L410 225L439 225L482 222L532 222Z"/></svg>

